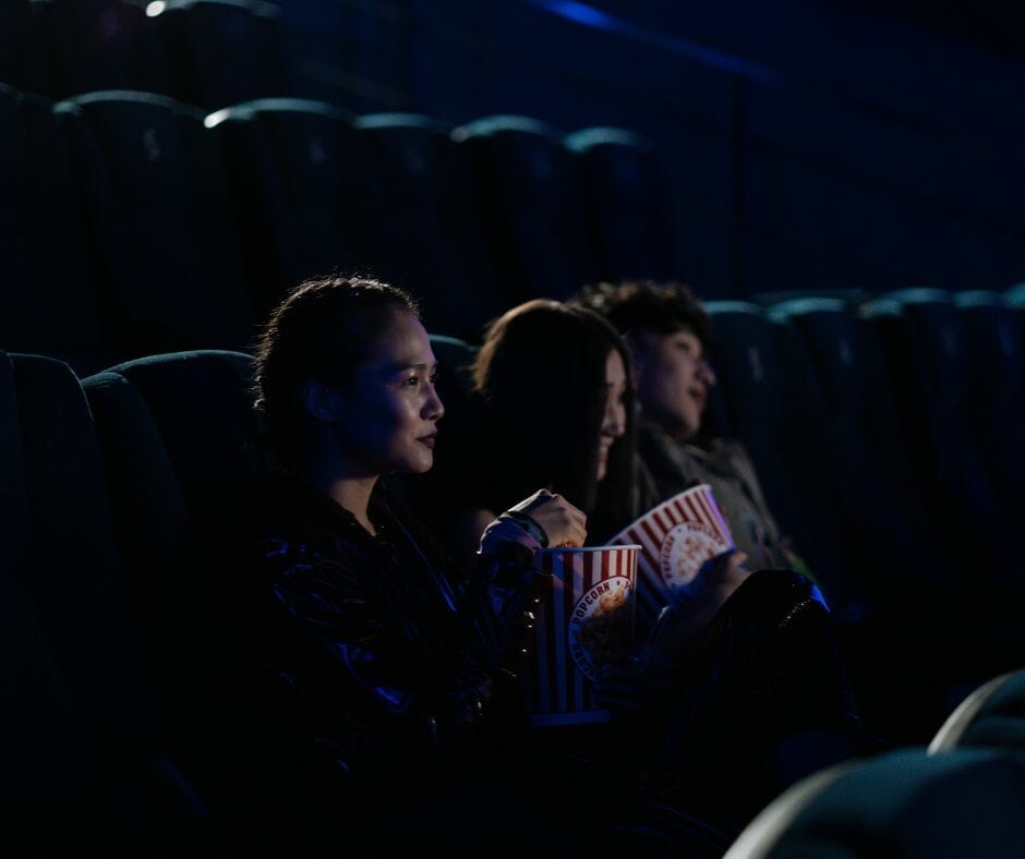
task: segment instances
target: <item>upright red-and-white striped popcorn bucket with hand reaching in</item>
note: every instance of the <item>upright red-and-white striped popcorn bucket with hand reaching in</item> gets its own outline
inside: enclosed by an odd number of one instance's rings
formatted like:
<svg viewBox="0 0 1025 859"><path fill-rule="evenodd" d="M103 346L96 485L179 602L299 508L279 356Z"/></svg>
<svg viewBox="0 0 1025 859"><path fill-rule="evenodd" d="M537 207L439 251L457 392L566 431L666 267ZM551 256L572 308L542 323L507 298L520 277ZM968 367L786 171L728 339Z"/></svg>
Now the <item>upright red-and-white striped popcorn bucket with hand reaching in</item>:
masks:
<svg viewBox="0 0 1025 859"><path fill-rule="evenodd" d="M634 591L639 545L546 548L538 553L552 588L541 605L528 673L534 725L607 722L591 685L634 644Z"/></svg>

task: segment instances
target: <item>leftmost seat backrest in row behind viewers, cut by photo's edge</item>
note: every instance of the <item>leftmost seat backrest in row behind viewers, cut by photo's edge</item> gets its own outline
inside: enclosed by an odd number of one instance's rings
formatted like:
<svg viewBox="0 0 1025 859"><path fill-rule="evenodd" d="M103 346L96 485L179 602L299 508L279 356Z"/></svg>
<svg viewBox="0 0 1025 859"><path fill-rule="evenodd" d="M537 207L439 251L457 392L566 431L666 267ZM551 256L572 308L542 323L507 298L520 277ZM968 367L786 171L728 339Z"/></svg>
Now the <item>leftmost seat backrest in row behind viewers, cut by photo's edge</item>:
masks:
<svg viewBox="0 0 1025 859"><path fill-rule="evenodd" d="M0 348L89 373L106 349L86 225L52 102L0 84Z"/></svg>

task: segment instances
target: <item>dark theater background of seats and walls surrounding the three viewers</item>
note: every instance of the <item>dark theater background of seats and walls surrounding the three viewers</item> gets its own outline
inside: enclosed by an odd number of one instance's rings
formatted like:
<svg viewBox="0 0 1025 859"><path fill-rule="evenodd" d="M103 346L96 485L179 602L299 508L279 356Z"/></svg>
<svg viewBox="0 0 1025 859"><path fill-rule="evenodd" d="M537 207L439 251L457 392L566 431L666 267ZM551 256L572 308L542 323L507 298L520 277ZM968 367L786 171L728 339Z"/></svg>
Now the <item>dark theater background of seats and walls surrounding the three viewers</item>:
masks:
<svg viewBox="0 0 1025 859"><path fill-rule="evenodd" d="M210 846L209 541L289 287L406 287L458 368L637 278L706 301L709 428L879 736L729 859L1025 855L1023 92L1006 0L0 0L0 819Z"/></svg>

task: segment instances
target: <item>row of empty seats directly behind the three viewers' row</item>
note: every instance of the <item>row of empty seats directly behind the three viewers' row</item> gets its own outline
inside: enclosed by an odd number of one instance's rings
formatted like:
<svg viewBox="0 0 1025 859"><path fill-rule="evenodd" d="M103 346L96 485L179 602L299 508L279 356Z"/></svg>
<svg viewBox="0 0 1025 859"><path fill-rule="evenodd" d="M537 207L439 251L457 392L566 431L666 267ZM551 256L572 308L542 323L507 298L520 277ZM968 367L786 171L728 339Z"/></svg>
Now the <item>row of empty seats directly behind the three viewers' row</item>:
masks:
<svg viewBox="0 0 1025 859"><path fill-rule="evenodd" d="M244 350L310 275L401 283L474 340L523 298L675 268L658 161L627 130L0 86L0 344L76 370Z"/></svg>

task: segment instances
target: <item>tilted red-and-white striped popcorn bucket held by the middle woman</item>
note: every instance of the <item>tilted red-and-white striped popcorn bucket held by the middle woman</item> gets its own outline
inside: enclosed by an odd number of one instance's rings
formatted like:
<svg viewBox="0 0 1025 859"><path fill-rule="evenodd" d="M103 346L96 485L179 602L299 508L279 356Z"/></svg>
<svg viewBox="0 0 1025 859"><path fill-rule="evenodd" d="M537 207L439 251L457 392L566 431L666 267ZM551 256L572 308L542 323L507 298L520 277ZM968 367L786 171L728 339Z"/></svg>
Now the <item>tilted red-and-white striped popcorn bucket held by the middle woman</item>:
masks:
<svg viewBox="0 0 1025 859"><path fill-rule="evenodd" d="M707 483L674 495L608 541L639 544L636 628L654 626L663 606L684 594L709 558L734 548L733 535Z"/></svg>

